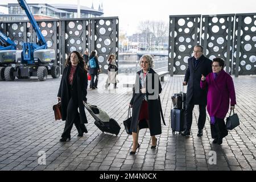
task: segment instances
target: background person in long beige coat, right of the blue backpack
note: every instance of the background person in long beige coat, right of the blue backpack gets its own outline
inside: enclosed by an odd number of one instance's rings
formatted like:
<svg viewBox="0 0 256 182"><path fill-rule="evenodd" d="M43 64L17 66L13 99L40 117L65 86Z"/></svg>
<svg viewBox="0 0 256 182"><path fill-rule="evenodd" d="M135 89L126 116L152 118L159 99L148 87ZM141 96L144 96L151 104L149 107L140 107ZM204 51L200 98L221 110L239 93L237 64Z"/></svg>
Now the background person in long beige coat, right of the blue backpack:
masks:
<svg viewBox="0 0 256 182"><path fill-rule="evenodd" d="M108 88L110 84L114 84L114 88L117 88L117 64L115 64L115 55L113 53L109 55L108 61L109 68L108 68L108 79L106 80L105 88Z"/></svg>

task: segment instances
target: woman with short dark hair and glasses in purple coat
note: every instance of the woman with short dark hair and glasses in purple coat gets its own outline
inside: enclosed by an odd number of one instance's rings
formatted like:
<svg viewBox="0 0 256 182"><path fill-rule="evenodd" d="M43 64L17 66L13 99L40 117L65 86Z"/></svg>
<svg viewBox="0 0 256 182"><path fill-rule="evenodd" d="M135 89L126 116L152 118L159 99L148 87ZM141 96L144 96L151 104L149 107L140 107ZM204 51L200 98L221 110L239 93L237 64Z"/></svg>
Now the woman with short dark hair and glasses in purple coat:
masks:
<svg viewBox="0 0 256 182"><path fill-rule="evenodd" d="M234 109L236 93L232 77L223 68L225 61L221 58L214 58L212 62L212 73L207 77L202 75L200 86L207 88L207 111L210 115L210 131L213 143L221 144L222 138L228 135L224 118L230 109Z"/></svg>

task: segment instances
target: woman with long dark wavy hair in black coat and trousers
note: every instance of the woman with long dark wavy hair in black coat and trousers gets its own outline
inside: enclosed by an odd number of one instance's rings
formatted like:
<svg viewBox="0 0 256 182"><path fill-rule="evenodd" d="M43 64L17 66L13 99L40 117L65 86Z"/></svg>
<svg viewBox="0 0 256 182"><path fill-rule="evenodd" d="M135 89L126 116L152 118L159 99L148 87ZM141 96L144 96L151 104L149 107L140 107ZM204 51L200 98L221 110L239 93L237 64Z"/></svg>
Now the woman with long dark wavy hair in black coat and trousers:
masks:
<svg viewBox="0 0 256 182"><path fill-rule="evenodd" d="M70 140L73 123L79 133L78 137L82 137L84 132L88 132L84 125L84 123L88 123L84 111L84 102L87 101L87 86L88 79L83 58L79 52L73 51L66 60L57 94L58 99L61 100L62 120L66 121L60 142ZM79 112L77 108L79 108Z"/></svg>

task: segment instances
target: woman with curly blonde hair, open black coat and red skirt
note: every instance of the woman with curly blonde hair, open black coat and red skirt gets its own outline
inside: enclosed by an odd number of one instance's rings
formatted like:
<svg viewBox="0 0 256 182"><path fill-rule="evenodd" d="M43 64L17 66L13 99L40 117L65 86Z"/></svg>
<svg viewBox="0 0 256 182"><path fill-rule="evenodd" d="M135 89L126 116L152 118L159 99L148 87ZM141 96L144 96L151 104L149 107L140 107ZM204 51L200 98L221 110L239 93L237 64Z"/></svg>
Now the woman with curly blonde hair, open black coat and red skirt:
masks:
<svg viewBox="0 0 256 182"><path fill-rule="evenodd" d="M162 107L159 97L159 94L162 92L162 86L159 81L159 76L152 69L152 64L152 57L150 55L143 55L140 60L142 69L136 74L133 98L130 101L130 107L133 107L133 115L131 118L133 150L130 154L135 154L137 148L139 148L138 134L140 129L150 129L151 148L156 147L157 139L155 135L162 133L160 118Z"/></svg>

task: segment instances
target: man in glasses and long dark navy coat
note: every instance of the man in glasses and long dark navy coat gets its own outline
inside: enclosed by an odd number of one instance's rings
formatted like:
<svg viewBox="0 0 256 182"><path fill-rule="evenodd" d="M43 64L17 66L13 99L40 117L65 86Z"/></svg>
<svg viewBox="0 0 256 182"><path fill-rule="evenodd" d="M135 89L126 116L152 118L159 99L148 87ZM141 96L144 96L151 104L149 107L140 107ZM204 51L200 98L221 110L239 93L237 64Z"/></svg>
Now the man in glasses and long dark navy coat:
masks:
<svg viewBox="0 0 256 182"><path fill-rule="evenodd" d="M207 89L200 88L200 80L202 75L207 76L212 72L212 61L203 55L201 46L195 46L193 53L194 56L188 59L188 68L183 82L183 85L188 85L185 110L187 129L181 135L190 135L193 108L199 105L197 136L201 137L206 119Z"/></svg>

